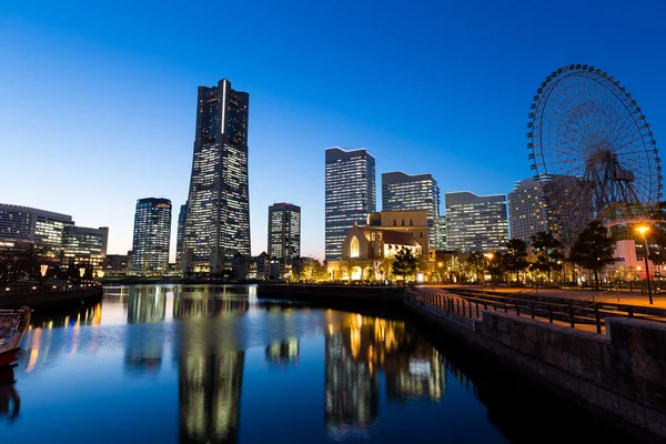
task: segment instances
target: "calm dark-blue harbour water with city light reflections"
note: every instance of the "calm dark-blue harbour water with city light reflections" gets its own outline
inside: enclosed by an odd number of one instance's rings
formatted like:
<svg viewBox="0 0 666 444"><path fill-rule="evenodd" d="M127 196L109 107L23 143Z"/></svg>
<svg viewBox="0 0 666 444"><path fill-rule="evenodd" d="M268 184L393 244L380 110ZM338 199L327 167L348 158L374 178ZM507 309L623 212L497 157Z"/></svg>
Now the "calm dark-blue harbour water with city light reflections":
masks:
<svg viewBox="0 0 666 444"><path fill-rule="evenodd" d="M432 341L400 315L260 302L251 286L109 287L33 319L0 387L2 442L629 442Z"/></svg>

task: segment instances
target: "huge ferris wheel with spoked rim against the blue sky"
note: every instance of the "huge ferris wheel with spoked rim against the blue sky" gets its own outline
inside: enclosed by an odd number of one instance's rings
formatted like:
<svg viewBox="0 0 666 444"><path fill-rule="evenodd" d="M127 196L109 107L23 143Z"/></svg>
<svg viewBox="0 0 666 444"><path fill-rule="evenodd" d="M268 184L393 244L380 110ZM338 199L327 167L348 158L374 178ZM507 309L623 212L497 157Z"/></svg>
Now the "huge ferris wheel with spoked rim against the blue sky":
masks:
<svg viewBox="0 0 666 444"><path fill-rule="evenodd" d="M649 124L606 72L587 64L553 71L536 90L527 128L532 170L565 238L595 218L635 219L662 199Z"/></svg>

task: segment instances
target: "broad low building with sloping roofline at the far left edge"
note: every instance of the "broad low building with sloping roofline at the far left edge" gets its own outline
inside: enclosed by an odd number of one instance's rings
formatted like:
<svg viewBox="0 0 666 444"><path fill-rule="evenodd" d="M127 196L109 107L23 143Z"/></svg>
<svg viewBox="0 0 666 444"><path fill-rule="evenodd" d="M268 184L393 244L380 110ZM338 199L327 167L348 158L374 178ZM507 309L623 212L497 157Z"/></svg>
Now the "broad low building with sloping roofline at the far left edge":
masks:
<svg viewBox="0 0 666 444"><path fill-rule="evenodd" d="M38 243L56 255L62 250L64 229L73 224L71 215L0 203L0 243Z"/></svg>

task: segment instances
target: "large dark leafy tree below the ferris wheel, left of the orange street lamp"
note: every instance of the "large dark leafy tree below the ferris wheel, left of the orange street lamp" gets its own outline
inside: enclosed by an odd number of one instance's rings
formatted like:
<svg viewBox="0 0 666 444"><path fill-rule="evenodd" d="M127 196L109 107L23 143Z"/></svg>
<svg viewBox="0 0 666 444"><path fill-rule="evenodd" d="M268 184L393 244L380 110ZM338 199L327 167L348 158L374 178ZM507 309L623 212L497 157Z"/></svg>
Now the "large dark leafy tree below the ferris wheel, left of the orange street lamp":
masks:
<svg viewBox="0 0 666 444"><path fill-rule="evenodd" d="M615 240L608 236L602 222L592 221L574 242L571 259L574 263L594 272L595 289L598 289L599 272L616 261L614 254Z"/></svg>

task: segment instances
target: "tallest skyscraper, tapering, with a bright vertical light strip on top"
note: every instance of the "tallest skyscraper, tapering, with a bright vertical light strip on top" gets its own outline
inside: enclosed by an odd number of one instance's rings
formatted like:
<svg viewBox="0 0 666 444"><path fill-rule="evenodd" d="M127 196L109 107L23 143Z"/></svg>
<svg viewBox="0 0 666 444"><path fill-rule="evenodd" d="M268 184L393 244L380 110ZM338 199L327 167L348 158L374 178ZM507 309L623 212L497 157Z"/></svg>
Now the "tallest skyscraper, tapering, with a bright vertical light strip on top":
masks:
<svg viewBox="0 0 666 444"><path fill-rule="evenodd" d="M226 79L199 87L183 271L221 272L235 253L250 254L249 102Z"/></svg>

